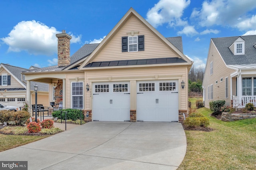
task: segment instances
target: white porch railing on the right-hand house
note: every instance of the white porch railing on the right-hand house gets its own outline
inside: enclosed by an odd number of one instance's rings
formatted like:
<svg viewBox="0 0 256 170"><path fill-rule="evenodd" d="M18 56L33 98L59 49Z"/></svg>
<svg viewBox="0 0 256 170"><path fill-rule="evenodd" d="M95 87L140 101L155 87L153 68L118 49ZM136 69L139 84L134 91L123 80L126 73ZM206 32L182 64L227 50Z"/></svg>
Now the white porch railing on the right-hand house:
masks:
<svg viewBox="0 0 256 170"><path fill-rule="evenodd" d="M244 108L247 103L252 103L256 107L256 96L242 96L240 100L233 96L233 107Z"/></svg>

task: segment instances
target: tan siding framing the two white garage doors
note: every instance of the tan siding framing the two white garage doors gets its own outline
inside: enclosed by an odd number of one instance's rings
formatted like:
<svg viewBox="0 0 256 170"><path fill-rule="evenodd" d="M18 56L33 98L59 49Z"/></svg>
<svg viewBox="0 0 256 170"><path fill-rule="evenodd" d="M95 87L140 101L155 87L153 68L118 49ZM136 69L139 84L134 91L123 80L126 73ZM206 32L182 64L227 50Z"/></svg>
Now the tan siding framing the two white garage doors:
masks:
<svg viewBox="0 0 256 170"><path fill-rule="evenodd" d="M144 67L144 68L124 68L124 69L104 69L104 70L86 70L86 83L90 84L90 92L86 93L86 109L92 109L92 83L100 81L130 81L130 89L135 94L131 94L130 97L136 97L136 83L138 80L178 80L177 88L179 90L180 110L187 110L188 96L187 87L181 89L180 82L187 79L187 67L186 66L166 66L166 67ZM181 98L182 96L182 98ZM89 100L90 99L90 100ZM133 100L133 99L131 99ZM132 104L131 108L134 109L136 103Z"/></svg>

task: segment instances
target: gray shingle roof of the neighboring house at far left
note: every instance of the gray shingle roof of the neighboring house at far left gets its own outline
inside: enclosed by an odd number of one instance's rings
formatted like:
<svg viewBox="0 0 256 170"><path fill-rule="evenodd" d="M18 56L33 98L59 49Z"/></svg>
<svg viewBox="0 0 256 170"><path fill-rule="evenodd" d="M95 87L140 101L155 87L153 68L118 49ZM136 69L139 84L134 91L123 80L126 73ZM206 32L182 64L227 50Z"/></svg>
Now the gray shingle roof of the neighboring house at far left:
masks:
<svg viewBox="0 0 256 170"><path fill-rule="evenodd" d="M6 69L8 69L17 79L19 79L20 82L22 82L24 85L26 85L26 83L24 83L21 79L21 73L23 71L29 71L28 69L12 66L9 64L3 64L3 63L2 63L2 65L4 65L4 67L6 67ZM30 71L32 71L32 70L30 70ZM23 80L24 80L24 78L23 78ZM35 85L38 85L39 91L49 91L49 85L47 83L38 83L38 82L31 81L30 89L33 90ZM13 88L9 88L7 90L13 90ZM24 90L24 89L20 88L17 90Z"/></svg>

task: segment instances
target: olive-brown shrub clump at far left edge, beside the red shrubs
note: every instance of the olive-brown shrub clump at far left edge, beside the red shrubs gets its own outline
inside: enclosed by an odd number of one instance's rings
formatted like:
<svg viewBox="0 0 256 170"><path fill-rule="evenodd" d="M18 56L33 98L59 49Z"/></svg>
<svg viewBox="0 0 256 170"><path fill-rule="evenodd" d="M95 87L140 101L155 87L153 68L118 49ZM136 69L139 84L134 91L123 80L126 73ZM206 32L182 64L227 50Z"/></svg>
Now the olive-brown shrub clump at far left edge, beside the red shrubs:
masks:
<svg viewBox="0 0 256 170"><path fill-rule="evenodd" d="M0 122L8 123L12 125L22 126L26 120L30 117L30 113L26 111L0 111Z"/></svg>

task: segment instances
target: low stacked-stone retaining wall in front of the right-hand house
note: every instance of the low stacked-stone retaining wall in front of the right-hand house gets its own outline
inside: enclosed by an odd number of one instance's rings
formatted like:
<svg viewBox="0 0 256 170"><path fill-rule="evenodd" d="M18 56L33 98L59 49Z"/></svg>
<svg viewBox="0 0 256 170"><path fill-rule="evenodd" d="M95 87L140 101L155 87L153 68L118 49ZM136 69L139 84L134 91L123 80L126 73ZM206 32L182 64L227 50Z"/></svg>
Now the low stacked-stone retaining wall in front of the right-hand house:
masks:
<svg viewBox="0 0 256 170"><path fill-rule="evenodd" d="M228 112L222 112L221 114L221 120L230 122L230 121L237 121L242 119L250 119L250 118L256 118L256 113L228 113Z"/></svg>

